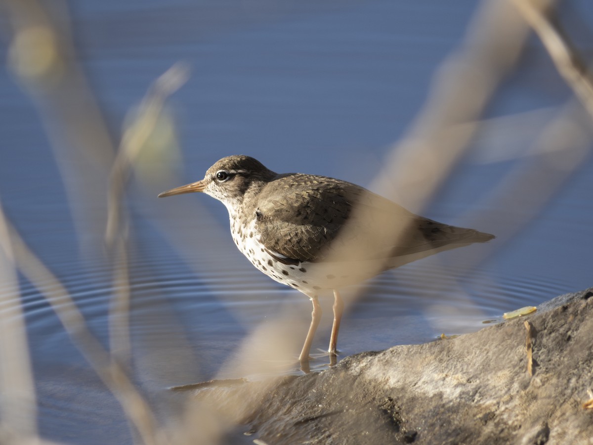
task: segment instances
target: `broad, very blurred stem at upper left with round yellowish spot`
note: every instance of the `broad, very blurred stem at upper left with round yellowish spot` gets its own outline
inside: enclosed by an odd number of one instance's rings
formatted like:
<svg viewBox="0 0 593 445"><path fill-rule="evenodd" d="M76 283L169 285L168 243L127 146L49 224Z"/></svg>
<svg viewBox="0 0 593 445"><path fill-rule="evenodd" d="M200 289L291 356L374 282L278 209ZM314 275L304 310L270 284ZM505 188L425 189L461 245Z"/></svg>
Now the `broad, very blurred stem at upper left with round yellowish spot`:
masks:
<svg viewBox="0 0 593 445"><path fill-rule="evenodd" d="M82 252L101 252L112 138L76 56L62 0L0 0L8 68L37 107L68 195ZM94 203L88 205L88 203Z"/></svg>

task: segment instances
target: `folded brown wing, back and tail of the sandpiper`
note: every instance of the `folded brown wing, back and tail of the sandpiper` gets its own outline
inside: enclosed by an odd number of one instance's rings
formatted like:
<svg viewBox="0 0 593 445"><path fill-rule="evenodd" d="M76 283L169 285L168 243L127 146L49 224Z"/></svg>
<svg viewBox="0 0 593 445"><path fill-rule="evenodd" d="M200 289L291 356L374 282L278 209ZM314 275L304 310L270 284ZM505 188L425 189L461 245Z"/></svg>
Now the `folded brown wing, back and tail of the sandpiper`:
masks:
<svg viewBox="0 0 593 445"><path fill-rule="evenodd" d="M294 174L271 182L255 212L260 242L285 262L388 259L492 238L419 217L363 187L321 176Z"/></svg>

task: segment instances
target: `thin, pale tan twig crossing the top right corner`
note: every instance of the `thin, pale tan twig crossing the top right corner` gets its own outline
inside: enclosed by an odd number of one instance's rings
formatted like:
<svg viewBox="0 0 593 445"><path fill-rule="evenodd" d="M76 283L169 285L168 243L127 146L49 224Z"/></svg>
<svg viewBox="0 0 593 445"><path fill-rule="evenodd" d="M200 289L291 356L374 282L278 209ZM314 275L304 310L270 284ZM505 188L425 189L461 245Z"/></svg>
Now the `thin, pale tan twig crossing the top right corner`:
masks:
<svg viewBox="0 0 593 445"><path fill-rule="evenodd" d="M593 117L593 83L587 64L568 37L561 32L557 22L551 20L550 5L535 0L512 1L540 37L560 75Z"/></svg>

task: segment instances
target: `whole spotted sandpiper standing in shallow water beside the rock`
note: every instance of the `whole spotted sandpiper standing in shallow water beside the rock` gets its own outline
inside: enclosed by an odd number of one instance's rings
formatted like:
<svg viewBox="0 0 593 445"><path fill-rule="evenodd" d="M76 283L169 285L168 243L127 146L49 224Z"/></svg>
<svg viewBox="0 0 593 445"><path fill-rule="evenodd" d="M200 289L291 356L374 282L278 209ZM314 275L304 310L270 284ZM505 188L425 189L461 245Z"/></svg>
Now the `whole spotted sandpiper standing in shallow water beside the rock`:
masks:
<svg viewBox="0 0 593 445"><path fill-rule="evenodd" d="M443 250L494 238L442 224L352 183L313 174L278 174L256 159L222 158L204 179L158 195L203 192L227 207L232 239L257 269L311 299L307 362L321 319L318 294L333 291L329 352L337 352L339 290Z"/></svg>

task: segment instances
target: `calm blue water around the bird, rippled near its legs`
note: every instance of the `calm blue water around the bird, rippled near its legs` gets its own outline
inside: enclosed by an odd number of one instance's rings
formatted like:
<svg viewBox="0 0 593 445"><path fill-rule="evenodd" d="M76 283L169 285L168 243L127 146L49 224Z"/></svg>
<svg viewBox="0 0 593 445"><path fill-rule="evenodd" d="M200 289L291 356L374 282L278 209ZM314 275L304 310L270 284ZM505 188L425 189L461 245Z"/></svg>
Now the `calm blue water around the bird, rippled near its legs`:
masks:
<svg viewBox="0 0 593 445"><path fill-rule="evenodd" d="M295 328L289 335L295 338L296 358L310 302L241 256L228 233L224 206L208 196L158 200L156 194L201 179L219 158L241 153L276 171L368 185L425 101L435 69L463 37L475 4L73 3L79 57L114 135L158 75L180 59L193 67L170 102L183 154L177 182L152 189L133 180L128 195L133 376L167 418L173 408L160 402L168 387L215 376L242 377L235 375L232 363L257 348L248 341L253 332L268 326L274 335L275 329ZM586 1L570 8L571 17L593 21ZM4 59L6 43L0 49ZM540 109L546 115L550 107L568 101L568 88L535 40L527 51L527 62L503 84L487 117ZM0 98L2 205L107 345L111 267L100 249L91 255L79 249L85 243L100 246L102 233L82 227L76 236L43 122L6 70L0 72ZM530 131L523 126L517 137L528 144L537 135L536 129ZM488 211L496 218L476 228L508 234L511 223L505 221L527 209L511 204L493 208L487 196L524 158L497 156L499 148L487 134L473 145L423 213L466 225L470 212ZM343 320L342 357L430 341L441 332L471 332L505 311L593 285L592 169L591 156L584 158L514 237L464 249L484 258L471 271L462 270L463 253L448 252L369 282ZM82 209L103 205L83 202ZM43 437L129 443L118 403L39 291L22 278L18 291L6 285L1 291L14 302L20 298L25 308ZM325 315L314 348L326 348L329 339L331 300L322 304ZM287 315L297 325L275 324L275 318Z"/></svg>

